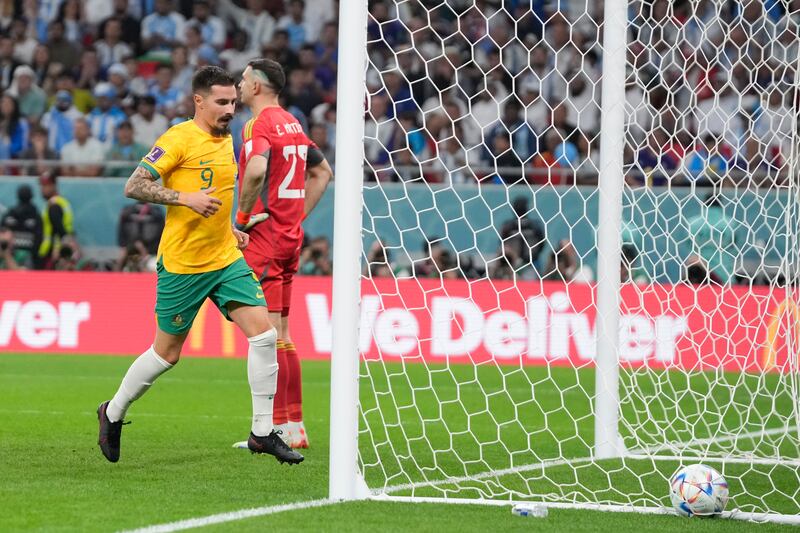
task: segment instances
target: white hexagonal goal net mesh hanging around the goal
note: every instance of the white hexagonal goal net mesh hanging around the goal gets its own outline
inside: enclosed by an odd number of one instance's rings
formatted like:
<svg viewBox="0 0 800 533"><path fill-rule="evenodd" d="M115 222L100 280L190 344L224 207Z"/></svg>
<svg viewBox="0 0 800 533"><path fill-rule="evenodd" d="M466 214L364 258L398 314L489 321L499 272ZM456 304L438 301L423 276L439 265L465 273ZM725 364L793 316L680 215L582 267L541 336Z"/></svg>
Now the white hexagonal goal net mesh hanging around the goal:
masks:
<svg viewBox="0 0 800 533"><path fill-rule="evenodd" d="M800 3L370 3L360 466L377 493L800 513ZM593 460L601 139L624 153L623 457Z"/></svg>

